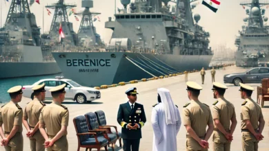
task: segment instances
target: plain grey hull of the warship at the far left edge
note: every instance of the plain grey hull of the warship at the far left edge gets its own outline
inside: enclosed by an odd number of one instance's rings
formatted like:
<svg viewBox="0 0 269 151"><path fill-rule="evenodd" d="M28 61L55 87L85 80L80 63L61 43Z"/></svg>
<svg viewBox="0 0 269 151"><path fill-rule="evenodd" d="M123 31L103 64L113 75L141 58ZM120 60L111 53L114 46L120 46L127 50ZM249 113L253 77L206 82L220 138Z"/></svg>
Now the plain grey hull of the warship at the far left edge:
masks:
<svg viewBox="0 0 269 151"><path fill-rule="evenodd" d="M1 62L0 79L61 73L56 62Z"/></svg>

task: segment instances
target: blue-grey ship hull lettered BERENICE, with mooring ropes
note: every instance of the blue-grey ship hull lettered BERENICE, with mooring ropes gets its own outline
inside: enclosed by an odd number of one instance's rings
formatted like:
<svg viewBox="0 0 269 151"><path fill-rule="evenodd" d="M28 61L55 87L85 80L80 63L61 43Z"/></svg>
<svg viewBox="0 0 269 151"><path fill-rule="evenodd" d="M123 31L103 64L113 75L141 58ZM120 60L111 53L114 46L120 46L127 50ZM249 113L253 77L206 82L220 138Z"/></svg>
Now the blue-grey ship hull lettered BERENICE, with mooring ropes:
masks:
<svg viewBox="0 0 269 151"><path fill-rule="evenodd" d="M52 52L65 78L84 86L118 84L181 71L207 68L205 56L138 54L127 52Z"/></svg>

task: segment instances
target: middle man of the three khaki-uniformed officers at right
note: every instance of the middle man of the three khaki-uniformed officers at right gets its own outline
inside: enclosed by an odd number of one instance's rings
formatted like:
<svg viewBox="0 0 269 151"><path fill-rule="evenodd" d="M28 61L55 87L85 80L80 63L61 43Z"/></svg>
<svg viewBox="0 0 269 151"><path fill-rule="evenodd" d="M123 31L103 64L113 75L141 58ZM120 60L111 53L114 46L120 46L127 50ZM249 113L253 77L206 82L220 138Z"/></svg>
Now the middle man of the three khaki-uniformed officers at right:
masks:
<svg viewBox="0 0 269 151"><path fill-rule="evenodd" d="M214 151L230 151L232 134L237 126L235 106L224 97L227 86L219 82L213 82L213 95L217 101L212 106L212 117L214 120L213 142ZM232 121L232 124L230 124Z"/></svg>

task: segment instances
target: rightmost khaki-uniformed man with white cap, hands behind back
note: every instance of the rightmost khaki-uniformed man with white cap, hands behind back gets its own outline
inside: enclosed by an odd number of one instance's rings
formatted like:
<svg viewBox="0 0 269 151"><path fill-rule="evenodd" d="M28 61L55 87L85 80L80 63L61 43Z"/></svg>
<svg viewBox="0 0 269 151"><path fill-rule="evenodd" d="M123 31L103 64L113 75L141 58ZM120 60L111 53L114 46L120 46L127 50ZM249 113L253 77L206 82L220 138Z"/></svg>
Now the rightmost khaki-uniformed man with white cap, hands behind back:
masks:
<svg viewBox="0 0 269 151"><path fill-rule="evenodd" d="M242 148L243 151L257 151L258 143L263 139L265 121L261 107L251 95L254 89L246 84L239 83L241 88L241 98L245 100L241 106L241 132L242 132Z"/></svg>

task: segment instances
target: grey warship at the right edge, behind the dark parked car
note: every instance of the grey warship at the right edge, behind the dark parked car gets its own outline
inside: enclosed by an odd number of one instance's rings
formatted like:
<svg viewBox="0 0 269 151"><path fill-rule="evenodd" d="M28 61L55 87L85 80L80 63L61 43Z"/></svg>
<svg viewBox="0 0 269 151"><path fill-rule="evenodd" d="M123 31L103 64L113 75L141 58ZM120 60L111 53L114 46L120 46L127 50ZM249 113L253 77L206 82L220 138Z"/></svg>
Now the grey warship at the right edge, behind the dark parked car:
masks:
<svg viewBox="0 0 269 151"><path fill-rule="evenodd" d="M264 16L266 10L262 9L268 4L268 1L259 0L240 3L244 9L247 8L247 16L235 39L238 47L235 54L237 67L257 67L258 63L268 62L269 26L264 23L268 21L268 17Z"/></svg>

